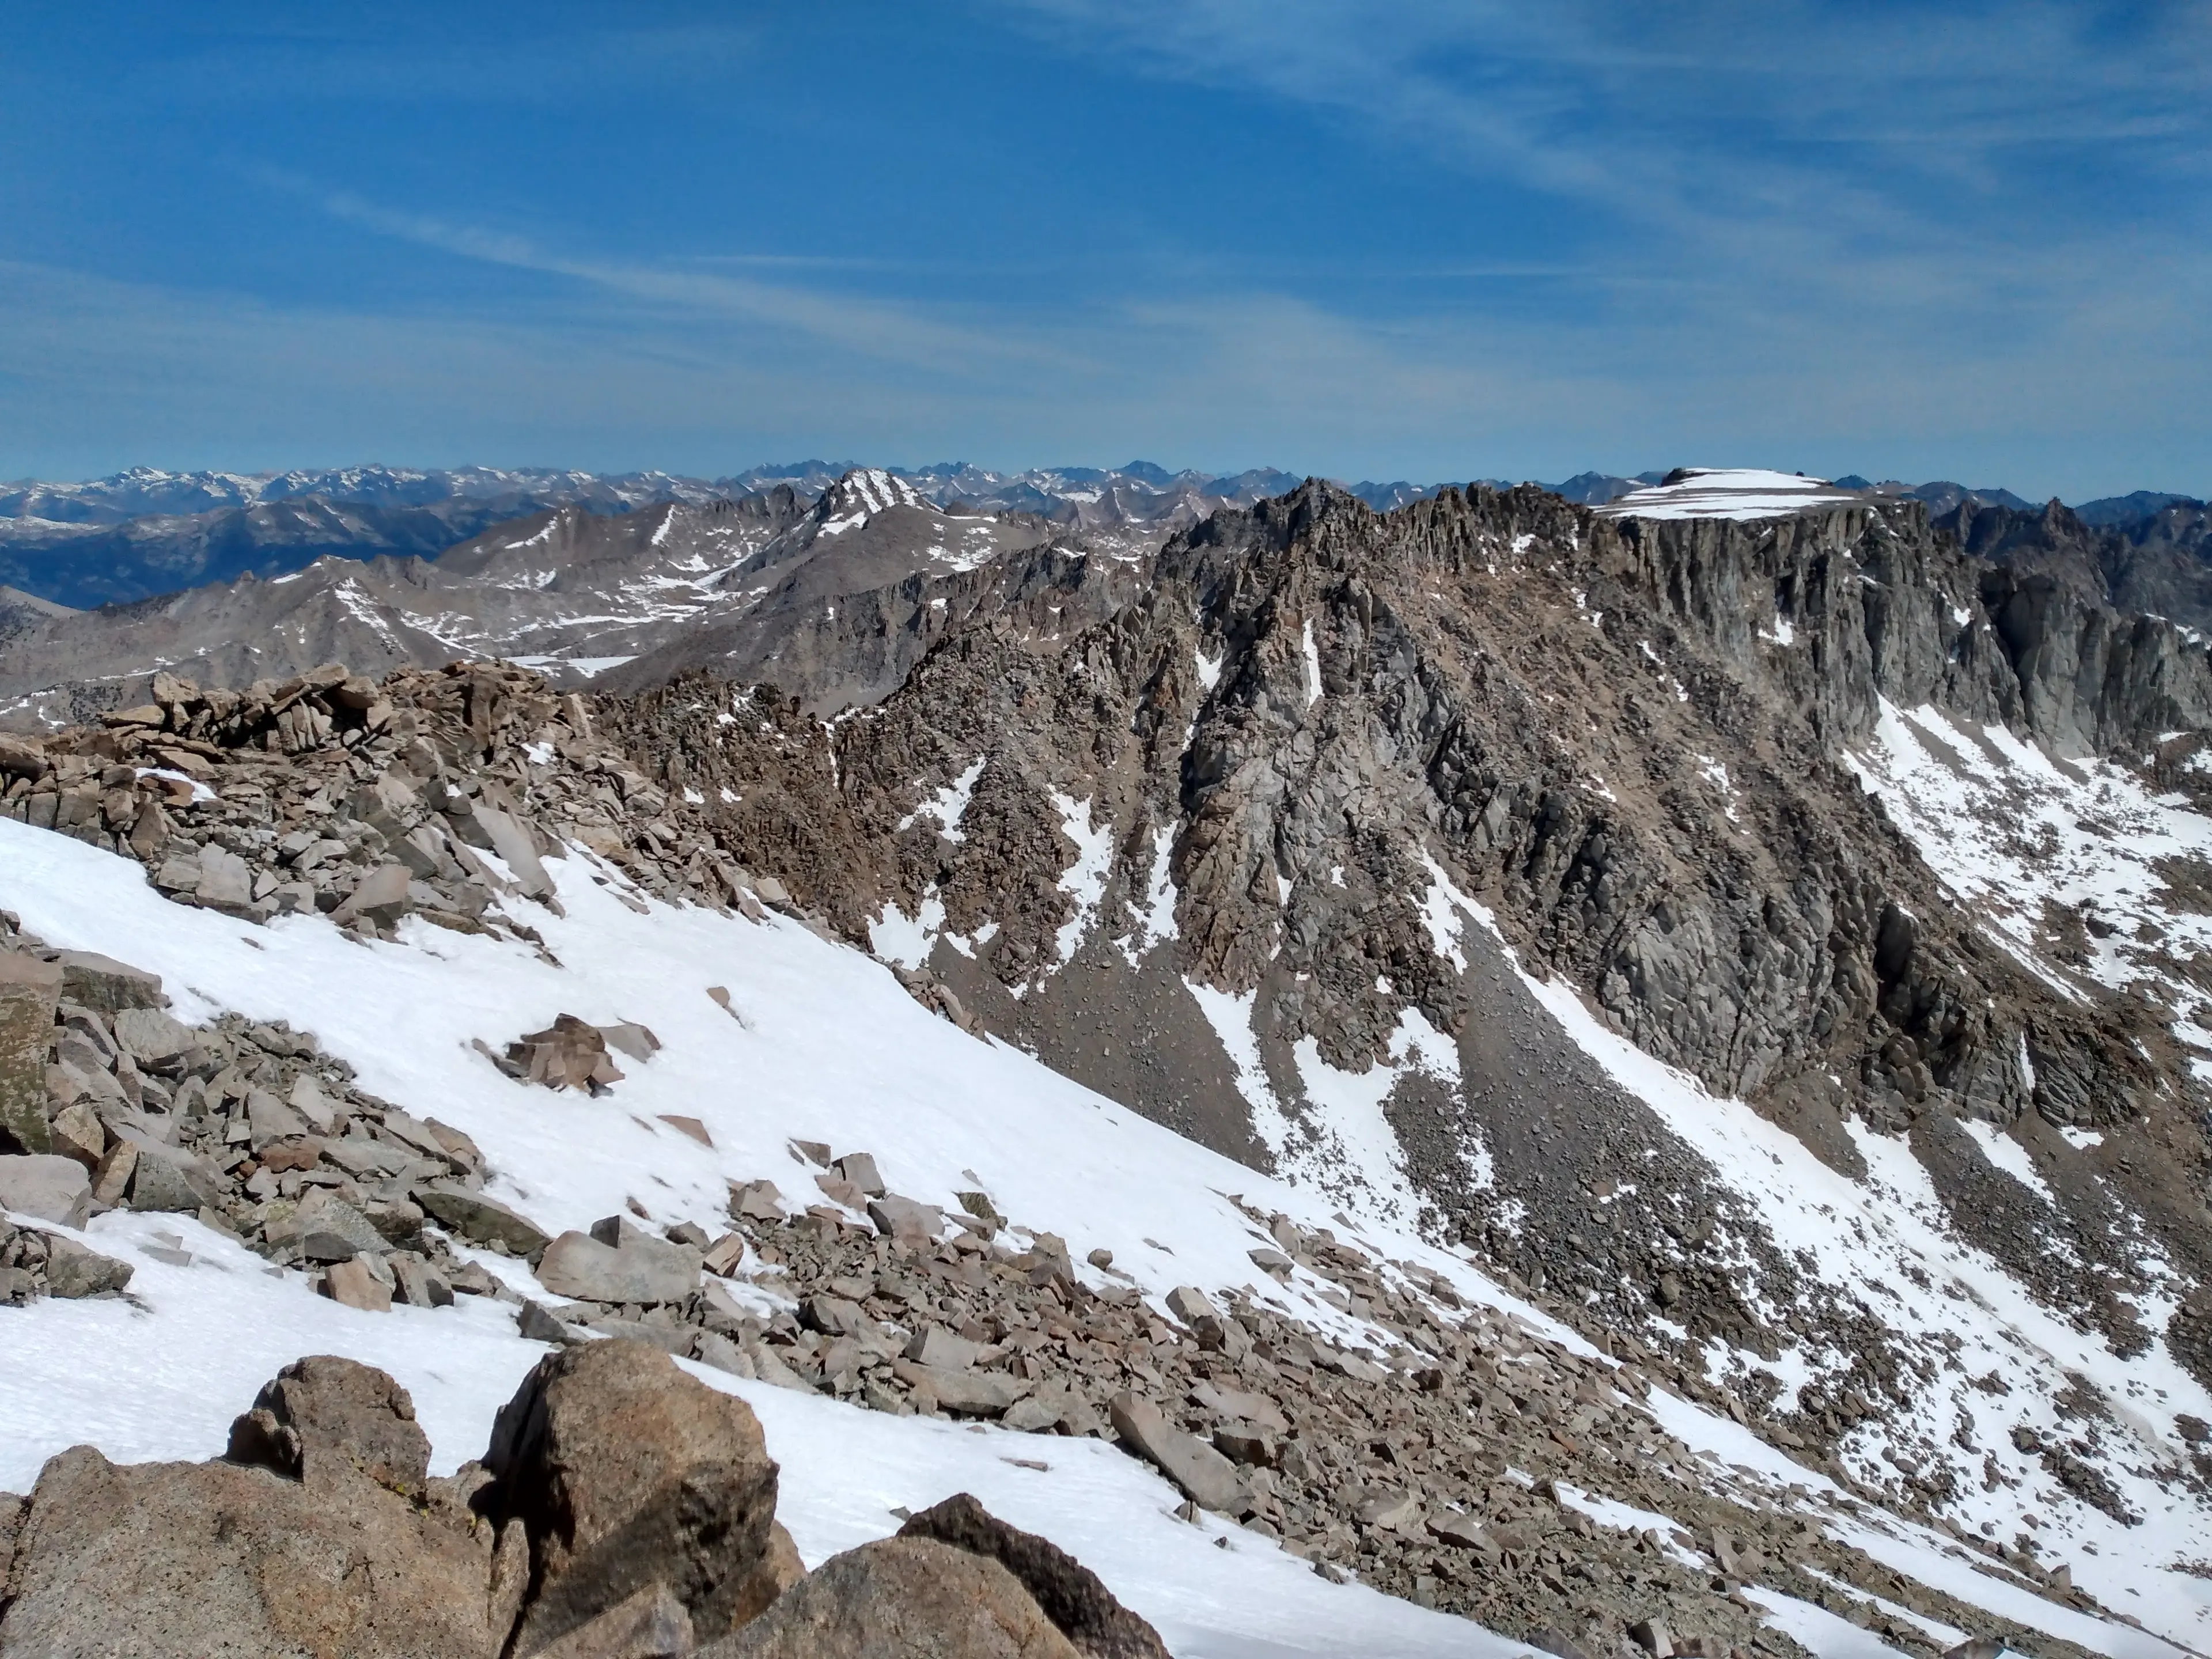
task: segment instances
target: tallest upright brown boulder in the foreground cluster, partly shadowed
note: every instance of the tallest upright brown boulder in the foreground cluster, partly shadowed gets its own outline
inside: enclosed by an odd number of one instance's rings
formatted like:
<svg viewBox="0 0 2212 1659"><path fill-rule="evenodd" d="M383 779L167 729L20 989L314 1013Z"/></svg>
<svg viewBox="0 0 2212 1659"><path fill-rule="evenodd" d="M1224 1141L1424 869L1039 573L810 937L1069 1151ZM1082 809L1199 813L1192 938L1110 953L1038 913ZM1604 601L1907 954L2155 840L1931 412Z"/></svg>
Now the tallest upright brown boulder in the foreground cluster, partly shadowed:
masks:
<svg viewBox="0 0 2212 1659"><path fill-rule="evenodd" d="M666 1586L699 1641L757 1617L799 1577L776 1526L776 1464L743 1400L661 1349L604 1340L549 1354L500 1409L484 1506L520 1520L535 1595L515 1655ZM650 1601L650 1597L646 1597Z"/></svg>

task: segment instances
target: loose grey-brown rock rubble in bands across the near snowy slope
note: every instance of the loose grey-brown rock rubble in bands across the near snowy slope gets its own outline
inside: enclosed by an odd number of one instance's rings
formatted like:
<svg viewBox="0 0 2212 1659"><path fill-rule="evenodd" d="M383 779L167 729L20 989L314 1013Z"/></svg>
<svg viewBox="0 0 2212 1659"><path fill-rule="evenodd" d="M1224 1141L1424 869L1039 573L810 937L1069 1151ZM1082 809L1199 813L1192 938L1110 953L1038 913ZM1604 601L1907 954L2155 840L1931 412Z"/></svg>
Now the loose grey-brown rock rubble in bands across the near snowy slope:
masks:
<svg viewBox="0 0 2212 1659"><path fill-rule="evenodd" d="M580 697L555 695L526 672L403 672L363 688L330 670L239 699L184 684L161 690L168 701L104 728L9 750L9 810L33 823L51 812L53 827L142 858L179 902L248 920L312 907L363 936L389 936L416 916L529 938L518 918L551 896L533 891L529 874L542 841L546 854L591 849L622 887L801 911L781 880L730 858L701 814L706 799L692 801L699 790L650 783ZM818 739L823 728L787 703L748 697L763 743L781 734L805 754L801 734ZM199 763L197 790L179 781L192 779L181 763ZM807 796L765 799L790 812ZM53 805L35 805L44 801ZM504 856L493 852L493 832ZM493 845L471 847L471 836ZM310 858L314 847L323 856ZM462 863L469 852L473 865ZM42 958L35 942L20 947ZM518 1307L526 1336L628 1336L883 1411L1119 1433L1188 1482L1192 1502L1285 1537L1325 1571L1531 1637L1573 1632L1553 1639L1593 1650L1619 1646L1630 1626L1657 1624L1683 1639L1701 1632L1725 1648L1787 1652L1745 1604L1712 1586L1714 1577L1743 1582L1728 1562L1752 1562L1745 1551L1772 1557L1763 1582L1834 1601L1849 1617L1874 1617L1865 1595L1902 1597L1953 1621L1978 1617L1929 1601L1851 1551L1820 1548L1787 1520L1699 1493L1688 1471L1661 1473L1681 1453L1635 1409L1635 1389L1652 1383L1626 1374L1630 1391L1621 1394L1621 1376L1608 1380L1484 1310L1453 1307L1449 1287L1416 1283L1332 1239L1279 1228L1279 1250L1263 1252L1261 1265L1323 1272L1340 1285L1345 1310L1391 1332L1385 1347L1343 1349L1252 1305L1214 1307L1201 1290L1179 1292L1177 1325L1168 1325L1135 1292L1086 1290L1048 1232L1015 1237L989 1194L945 1217L883 1192L872 1159L832 1161L830 1148L794 1150L821 1175L812 1210L750 1183L732 1192L734 1225L723 1237L657 1237L608 1217L588 1234L549 1239L482 1197L482 1161L465 1137L367 1099L312 1037L168 1020L155 1044L161 1053L148 1048L142 1066L122 1044L122 1013L95 1004L155 1004L159 987L115 964L100 971L108 980L93 989L91 969L80 969L91 1002L64 1006L55 989L42 1009L35 1117L49 1148L69 1137L64 1119L84 1128L75 1150L60 1155L75 1179L58 1223L93 1203L184 1208L367 1310L394 1296L436 1307L453 1292L511 1294L462 1252L520 1256L544 1285L542 1303ZM940 982L909 982L947 1018L973 1024ZM100 1040L115 1048L113 1066L84 1068L84 1051L100 1055ZM613 1062L615 1053L624 1057ZM650 1064L650 1033L568 1022L518 1035L487 1060L509 1075L597 1093L619 1088L619 1066ZM613 1068L602 1073L602 1062ZM133 1084L137 1102L117 1102ZM305 1117L310 1097L327 1124ZM20 1108L11 1124L24 1161L55 1157L33 1146L38 1130ZM117 1179L124 1161L131 1168ZM177 1192L155 1179L173 1170ZM20 1206L11 1199L11 1208ZM1110 1270L1110 1261L1091 1265ZM1644 1376L1666 1387L1728 1398L1635 1338L1608 1343L1626 1343L1617 1352L1641 1356ZM1641 1500L1652 1513L1710 1513L1725 1542L1692 1540L1692 1555L1717 1571L1686 1566L1677 1540L1597 1526L1557 1495L1562 1480L1615 1502ZM1812 1579L1792 1562L1818 1564L1858 1590ZM2042 1586L2039 1568L2028 1582ZM1898 1641L1911 1644L1913 1628ZM2037 1641L2035 1650L2059 1650Z"/></svg>

